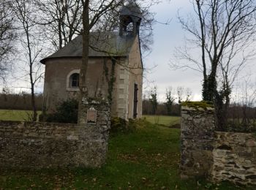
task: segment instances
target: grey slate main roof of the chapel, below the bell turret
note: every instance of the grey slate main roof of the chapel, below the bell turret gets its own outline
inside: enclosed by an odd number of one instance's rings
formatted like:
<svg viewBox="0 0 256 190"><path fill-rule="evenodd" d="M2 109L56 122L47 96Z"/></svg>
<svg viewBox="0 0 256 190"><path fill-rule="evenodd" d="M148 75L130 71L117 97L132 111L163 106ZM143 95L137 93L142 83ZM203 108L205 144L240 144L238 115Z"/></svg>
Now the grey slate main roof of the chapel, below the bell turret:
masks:
<svg viewBox="0 0 256 190"><path fill-rule="evenodd" d="M89 57L128 56L135 37L132 35L119 36L118 32L91 32ZM53 53L51 56L42 59L45 64L49 58L82 57L82 36L78 36Z"/></svg>

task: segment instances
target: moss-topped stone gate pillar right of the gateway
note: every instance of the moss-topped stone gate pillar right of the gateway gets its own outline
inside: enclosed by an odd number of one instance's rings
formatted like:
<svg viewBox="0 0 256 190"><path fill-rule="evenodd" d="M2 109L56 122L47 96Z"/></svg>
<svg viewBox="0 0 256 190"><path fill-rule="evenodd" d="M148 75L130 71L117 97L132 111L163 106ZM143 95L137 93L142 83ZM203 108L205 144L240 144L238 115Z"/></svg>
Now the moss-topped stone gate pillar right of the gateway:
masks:
<svg viewBox="0 0 256 190"><path fill-rule="evenodd" d="M181 178L208 176L214 142L214 108L203 102L181 107Z"/></svg>

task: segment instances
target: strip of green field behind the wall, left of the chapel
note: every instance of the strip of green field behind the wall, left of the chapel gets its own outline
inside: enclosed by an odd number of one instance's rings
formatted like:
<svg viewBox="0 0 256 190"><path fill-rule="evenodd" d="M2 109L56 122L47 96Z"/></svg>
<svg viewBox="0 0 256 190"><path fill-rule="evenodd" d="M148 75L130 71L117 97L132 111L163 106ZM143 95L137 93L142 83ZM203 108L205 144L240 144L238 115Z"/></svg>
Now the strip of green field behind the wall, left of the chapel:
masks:
<svg viewBox="0 0 256 190"><path fill-rule="evenodd" d="M32 115L31 110L0 110L0 120L5 121L29 121L29 117ZM39 114L41 111L38 111Z"/></svg>

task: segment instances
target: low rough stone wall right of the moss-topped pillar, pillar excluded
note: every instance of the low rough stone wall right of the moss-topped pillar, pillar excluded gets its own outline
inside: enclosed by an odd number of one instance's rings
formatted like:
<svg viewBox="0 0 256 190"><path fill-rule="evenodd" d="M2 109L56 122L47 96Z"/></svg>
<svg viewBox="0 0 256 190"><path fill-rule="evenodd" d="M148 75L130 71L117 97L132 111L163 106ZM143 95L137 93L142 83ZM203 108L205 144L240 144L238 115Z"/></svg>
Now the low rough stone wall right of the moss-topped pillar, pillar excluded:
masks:
<svg viewBox="0 0 256 190"><path fill-rule="evenodd" d="M212 180L256 185L255 134L215 132L213 158Z"/></svg>

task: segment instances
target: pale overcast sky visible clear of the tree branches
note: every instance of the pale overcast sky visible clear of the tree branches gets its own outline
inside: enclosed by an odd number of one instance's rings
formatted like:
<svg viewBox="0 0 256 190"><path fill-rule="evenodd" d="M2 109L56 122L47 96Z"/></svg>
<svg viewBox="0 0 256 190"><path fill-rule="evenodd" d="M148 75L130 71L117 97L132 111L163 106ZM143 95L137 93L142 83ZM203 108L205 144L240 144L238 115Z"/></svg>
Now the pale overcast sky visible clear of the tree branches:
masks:
<svg viewBox="0 0 256 190"><path fill-rule="evenodd" d="M181 29L181 25L177 20L178 9L181 15L186 15L192 12L192 4L189 0L163 0L161 4L157 4L151 8L157 13L156 20L165 23L170 20L168 25L156 23L154 25L154 45L152 52L143 60L146 68L153 68L146 71L144 80L144 91L148 91L151 87L157 86L158 99L165 101L165 90L169 86L173 87L173 92L176 93L178 86L191 88L194 100L201 99L201 81L203 76L199 72L192 70L173 70L170 68L170 61L173 60L175 47L184 44L186 33ZM255 61L252 61L252 63ZM255 80L256 66L252 64L249 68L252 75L252 80ZM246 73L246 71L244 71ZM247 73L246 73L247 75ZM17 83L17 80L9 78L8 86L10 88L25 86L29 84ZM37 92L42 92L42 83L37 87ZM16 88L15 92L19 92L20 88Z"/></svg>

